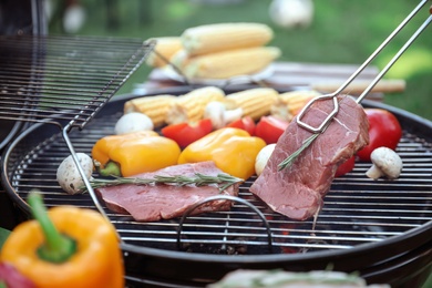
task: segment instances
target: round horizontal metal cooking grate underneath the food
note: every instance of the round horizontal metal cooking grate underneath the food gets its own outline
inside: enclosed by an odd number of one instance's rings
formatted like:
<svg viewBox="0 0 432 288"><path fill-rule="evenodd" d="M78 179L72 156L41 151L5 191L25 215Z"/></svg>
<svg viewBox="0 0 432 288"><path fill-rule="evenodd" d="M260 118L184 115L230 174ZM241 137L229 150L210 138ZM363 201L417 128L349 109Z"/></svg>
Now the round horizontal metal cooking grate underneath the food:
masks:
<svg viewBox="0 0 432 288"><path fill-rule="evenodd" d="M122 115L105 111L83 131L71 133L76 152L90 153L102 136L113 133ZM42 125L43 126L43 125ZM42 130L42 128L39 128ZM32 133L34 135L38 133ZM72 204L94 208L89 195L65 195L55 182L55 171L69 151L60 134L31 150L18 145L9 156L9 177L19 198L39 187L49 206ZM24 143L25 141L21 141ZM397 181L364 176L369 164L357 163L352 173L333 181L313 227L312 220L295 222L275 214L248 192L254 178L240 187L240 197L254 204L270 224L274 253L298 254L349 249L402 235L432 220L432 145L408 130L398 146L404 169ZM21 155L24 155L21 158ZM18 160L19 158L19 160ZM136 223L125 215L105 213L126 244L177 250L178 219ZM268 254L266 226L247 206L236 203L230 212L191 216L183 225L181 249L205 254Z"/></svg>

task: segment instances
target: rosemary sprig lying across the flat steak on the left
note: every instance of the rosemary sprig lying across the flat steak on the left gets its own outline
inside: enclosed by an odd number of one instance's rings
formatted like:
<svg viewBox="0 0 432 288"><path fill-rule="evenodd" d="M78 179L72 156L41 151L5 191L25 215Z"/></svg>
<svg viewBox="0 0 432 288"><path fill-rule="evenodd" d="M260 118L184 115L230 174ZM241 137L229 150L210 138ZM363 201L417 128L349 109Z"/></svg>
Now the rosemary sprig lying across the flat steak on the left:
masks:
<svg viewBox="0 0 432 288"><path fill-rule="evenodd" d="M209 175L196 173L195 176L192 177L184 176L184 175L174 175L174 176L155 175L152 178L115 176L113 179L96 179L96 178L90 179L90 184L93 188L101 188L101 187L115 186L122 184L136 184L136 185L168 184L168 185L177 185L177 186L186 186L186 185L205 186L205 185L216 184L219 187L220 192L240 182L244 182L244 179L234 177L225 173L219 173L216 176L209 176Z"/></svg>

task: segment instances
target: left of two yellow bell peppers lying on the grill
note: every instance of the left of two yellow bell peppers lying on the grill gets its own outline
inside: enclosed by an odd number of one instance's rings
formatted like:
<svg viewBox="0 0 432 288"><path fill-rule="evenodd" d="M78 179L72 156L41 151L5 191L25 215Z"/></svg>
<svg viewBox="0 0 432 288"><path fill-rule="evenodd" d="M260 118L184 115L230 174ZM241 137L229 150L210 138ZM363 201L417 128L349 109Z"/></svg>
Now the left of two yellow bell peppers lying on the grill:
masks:
<svg viewBox="0 0 432 288"><path fill-rule="evenodd" d="M100 138L92 150L93 160L102 168L109 162L117 163L124 177L175 165L179 154L181 148L175 141L154 131L109 135Z"/></svg>

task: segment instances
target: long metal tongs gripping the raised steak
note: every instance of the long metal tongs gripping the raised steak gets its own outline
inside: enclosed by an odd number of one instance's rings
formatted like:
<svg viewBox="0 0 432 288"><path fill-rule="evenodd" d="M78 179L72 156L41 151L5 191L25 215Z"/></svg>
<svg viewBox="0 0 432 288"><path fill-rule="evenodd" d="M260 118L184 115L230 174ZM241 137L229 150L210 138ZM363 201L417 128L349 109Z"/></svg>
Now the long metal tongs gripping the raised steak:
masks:
<svg viewBox="0 0 432 288"><path fill-rule="evenodd" d="M361 71L364 70L366 66L369 65L369 63L384 49L387 44L391 42L391 40L403 29L403 27L423 8L423 6L429 0L422 0L418 7L412 10L412 12L399 24L399 27L381 43L381 45L364 61L363 64L333 93L325 94L321 96L317 96L309 101L305 107L300 111L300 113L297 116L297 124L308 130L312 133L322 133L327 126L330 124L331 120L335 117L335 115L339 112L339 103L337 95L339 95L359 74ZM432 6L429 9L429 12L431 16L423 22L423 24L412 34L412 37L405 42L405 44L398 51L398 53L392 58L392 60L385 65L385 68L377 75L377 78L369 84L369 86L363 91L363 93L358 96L357 103L360 103L364 96L374 88L374 85L382 79L382 76L389 71L389 69L397 62L397 60L407 51L407 49L414 42L414 40L419 37L421 32L431 23L432 21ZM305 122L301 121L308 109L317 101L322 100L333 100L333 110L329 113L329 115L323 120L323 122L318 126L313 127Z"/></svg>

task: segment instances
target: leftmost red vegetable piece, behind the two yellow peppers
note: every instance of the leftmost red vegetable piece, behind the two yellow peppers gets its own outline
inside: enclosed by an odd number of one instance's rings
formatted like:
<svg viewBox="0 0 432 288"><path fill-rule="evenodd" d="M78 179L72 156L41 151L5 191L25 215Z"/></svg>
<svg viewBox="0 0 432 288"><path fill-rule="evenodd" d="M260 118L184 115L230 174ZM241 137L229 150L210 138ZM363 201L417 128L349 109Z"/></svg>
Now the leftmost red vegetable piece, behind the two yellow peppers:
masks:
<svg viewBox="0 0 432 288"><path fill-rule="evenodd" d="M204 137L212 131L213 124L209 119L204 119L193 123L171 124L161 130L162 135L174 140L182 148Z"/></svg>

